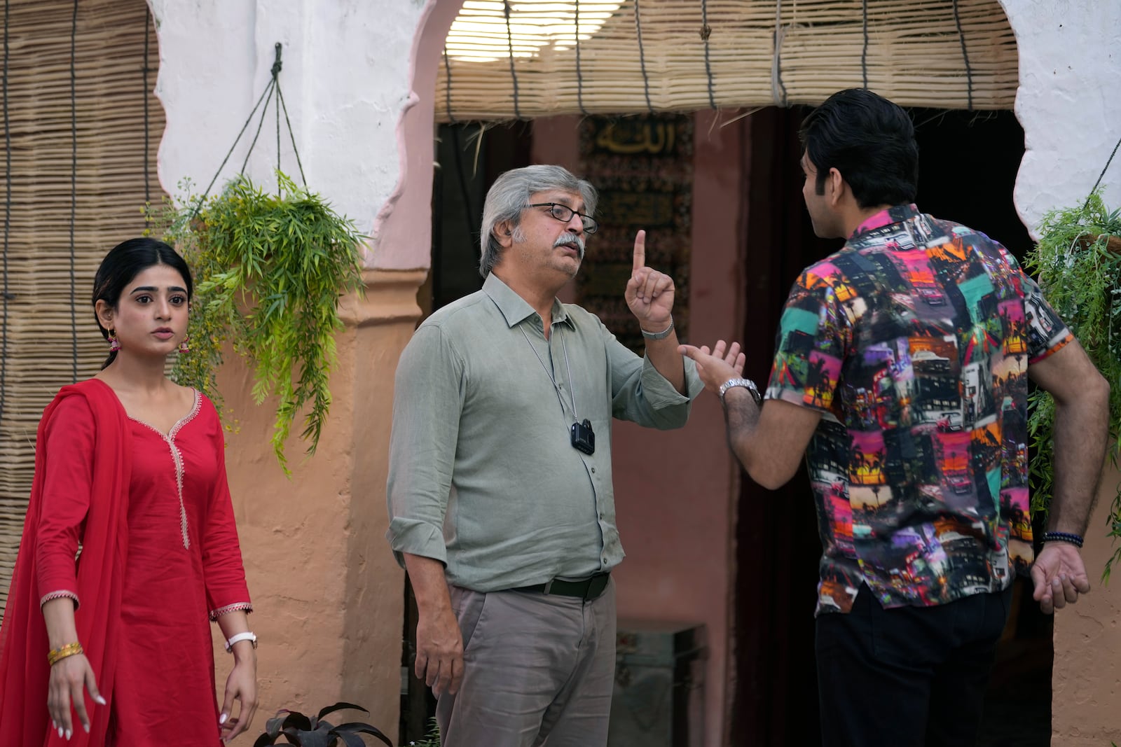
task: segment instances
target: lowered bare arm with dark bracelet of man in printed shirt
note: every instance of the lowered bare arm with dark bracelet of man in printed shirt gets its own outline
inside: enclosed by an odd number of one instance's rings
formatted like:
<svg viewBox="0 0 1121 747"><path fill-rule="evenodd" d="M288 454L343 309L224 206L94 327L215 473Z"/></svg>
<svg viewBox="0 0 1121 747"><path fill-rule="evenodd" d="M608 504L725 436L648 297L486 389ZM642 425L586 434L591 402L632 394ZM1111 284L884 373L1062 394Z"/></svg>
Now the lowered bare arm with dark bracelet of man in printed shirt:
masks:
<svg viewBox="0 0 1121 747"><path fill-rule="evenodd" d="M1077 340L1029 364L1028 376L1055 399L1055 475L1047 531L1083 535L1105 460L1110 385ZM1078 548L1068 542L1045 543L1031 579L1034 597L1048 614L1090 591Z"/></svg>

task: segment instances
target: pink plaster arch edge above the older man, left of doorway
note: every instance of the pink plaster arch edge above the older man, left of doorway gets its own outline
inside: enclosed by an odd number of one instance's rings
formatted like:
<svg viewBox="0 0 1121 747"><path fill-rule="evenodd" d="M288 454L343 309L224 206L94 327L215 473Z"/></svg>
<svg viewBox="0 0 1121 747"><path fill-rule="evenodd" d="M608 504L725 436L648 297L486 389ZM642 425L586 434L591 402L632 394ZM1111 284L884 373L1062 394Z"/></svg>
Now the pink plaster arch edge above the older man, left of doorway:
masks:
<svg viewBox="0 0 1121 747"><path fill-rule="evenodd" d="M463 0L427 0L413 40L409 99L397 122L400 177L373 222L372 265L427 270L432 263L433 123L444 39Z"/></svg>

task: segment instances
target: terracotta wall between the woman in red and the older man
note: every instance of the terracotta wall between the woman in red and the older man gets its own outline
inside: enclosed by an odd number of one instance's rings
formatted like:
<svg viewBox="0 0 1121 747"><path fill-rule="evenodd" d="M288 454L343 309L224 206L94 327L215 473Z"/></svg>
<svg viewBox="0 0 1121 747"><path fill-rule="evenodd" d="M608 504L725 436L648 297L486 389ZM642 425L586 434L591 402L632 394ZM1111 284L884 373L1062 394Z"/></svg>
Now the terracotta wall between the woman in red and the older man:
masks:
<svg viewBox="0 0 1121 747"><path fill-rule="evenodd" d="M344 300L331 418L314 459L291 439L290 480L268 445L270 402L252 404L241 361L231 356L222 370L219 385L239 419L226 470L260 639L254 734L279 708L308 712L337 700L364 706L365 720L397 734L404 605L383 536L385 475L393 372L424 277L368 271L365 299ZM229 655L214 629L221 693Z"/></svg>

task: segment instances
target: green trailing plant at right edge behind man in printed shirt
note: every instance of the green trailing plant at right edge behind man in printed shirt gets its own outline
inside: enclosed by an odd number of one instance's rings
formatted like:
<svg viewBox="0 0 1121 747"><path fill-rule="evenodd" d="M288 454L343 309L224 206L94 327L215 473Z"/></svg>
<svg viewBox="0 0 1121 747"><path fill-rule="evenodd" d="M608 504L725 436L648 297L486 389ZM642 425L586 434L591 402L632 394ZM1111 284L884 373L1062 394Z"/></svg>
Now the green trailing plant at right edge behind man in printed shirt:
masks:
<svg viewBox="0 0 1121 747"><path fill-rule="evenodd" d="M1121 211L1109 212L1094 190L1083 205L1046 214L1039 228L1041 239L1025 264L1031 269L1044 297L1110 383L1110 446L1113 465L1121 457ZM1111 236L1112 242L1111 242ZM1028 430L1036 447L1031 463L1035 491L1032 511L1047 511L1054 479L1055 402L1050 394L1035 391L1029 400ZM1110 510L1114 544L1121 538L1121 484ZM1108 581L1114 550L1102 580Z"/></svg>

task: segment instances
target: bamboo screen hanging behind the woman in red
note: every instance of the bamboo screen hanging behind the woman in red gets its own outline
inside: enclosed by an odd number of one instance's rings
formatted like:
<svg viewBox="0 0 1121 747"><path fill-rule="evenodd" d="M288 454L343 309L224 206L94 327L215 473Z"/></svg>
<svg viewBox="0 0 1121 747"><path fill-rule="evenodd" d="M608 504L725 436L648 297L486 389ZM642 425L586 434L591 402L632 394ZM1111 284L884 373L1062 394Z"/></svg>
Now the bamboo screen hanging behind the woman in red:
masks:
<svg viewBox="0 0 1121 747"><path fill-rule="evenodd" d="M0 605L39 417L61 386L93 375L104 360L90 306L93 273L109 249L143 230L146 196L160 199L164 131L143 0L6 0L4 15Z"/></svg>

